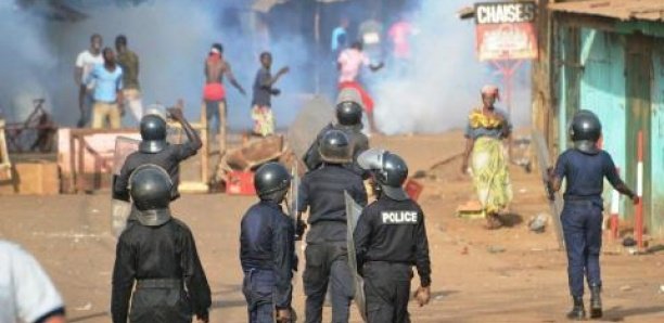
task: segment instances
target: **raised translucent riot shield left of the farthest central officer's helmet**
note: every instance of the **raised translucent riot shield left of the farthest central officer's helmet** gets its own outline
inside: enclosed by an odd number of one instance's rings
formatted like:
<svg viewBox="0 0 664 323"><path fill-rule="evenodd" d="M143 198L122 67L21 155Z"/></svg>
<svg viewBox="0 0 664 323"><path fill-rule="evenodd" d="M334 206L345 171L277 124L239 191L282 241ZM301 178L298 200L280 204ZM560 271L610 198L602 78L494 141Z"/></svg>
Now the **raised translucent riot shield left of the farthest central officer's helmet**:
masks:
<svg viewBox="0 0 664 323"><path fill-rule="evenodd" d="M307 153L320 129L334 120L334 108L323 96L315 96L299 111L289 128L289 146L301 159Z"/></svg>

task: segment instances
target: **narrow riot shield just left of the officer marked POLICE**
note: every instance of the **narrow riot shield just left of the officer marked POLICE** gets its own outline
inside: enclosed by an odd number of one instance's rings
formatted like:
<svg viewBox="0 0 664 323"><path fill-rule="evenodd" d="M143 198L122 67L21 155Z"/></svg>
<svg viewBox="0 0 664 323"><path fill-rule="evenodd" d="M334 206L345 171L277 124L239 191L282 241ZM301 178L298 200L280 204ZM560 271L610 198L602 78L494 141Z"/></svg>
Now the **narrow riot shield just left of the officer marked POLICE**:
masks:
<svg viewBox="0 0 664 323"><path fill-rule="evenodd" d="M348 227L347 233L347 247L348 247L348 266L353 273L353 283L355 285L355 305L362 315L362 320L367 322L367 301L365 299L365 281L357 273L357 258L355 255L355 241L353 240L353 233L357 227L357 221L362 212L362 207L359 206L348 192L344 191L344 199L346 202L346 224Z"/></svg>

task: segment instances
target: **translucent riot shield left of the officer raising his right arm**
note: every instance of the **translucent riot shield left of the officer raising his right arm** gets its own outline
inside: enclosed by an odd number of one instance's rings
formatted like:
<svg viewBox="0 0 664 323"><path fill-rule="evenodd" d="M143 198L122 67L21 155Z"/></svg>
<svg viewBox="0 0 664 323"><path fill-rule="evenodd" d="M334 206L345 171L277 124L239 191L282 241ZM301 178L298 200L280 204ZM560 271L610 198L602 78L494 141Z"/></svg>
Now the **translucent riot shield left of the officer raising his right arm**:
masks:
<svg viewBox="0 0 664 323"><path fill-rule="evenodd" d="M127 156L138 151L140 141L126 137L115 139L115 153L113 155L113 183L120 173ZM118 237L125 230L127 218L131 212L131 204L120 199L111 201L111 229L113 234Z"/></svg>

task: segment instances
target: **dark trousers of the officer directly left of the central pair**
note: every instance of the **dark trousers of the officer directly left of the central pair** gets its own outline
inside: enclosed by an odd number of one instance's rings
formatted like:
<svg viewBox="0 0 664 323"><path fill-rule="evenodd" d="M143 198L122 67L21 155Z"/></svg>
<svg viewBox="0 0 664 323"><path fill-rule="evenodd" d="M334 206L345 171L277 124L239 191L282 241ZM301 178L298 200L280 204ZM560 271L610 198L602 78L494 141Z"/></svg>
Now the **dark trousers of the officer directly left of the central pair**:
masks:
<svg viewBox="0 0 664 323"><path fill-rule="evenodd" d="M250 323L274 322L272 290L274 273L270 270L250 270L244 272L242 293L246 299Z"/></svg>

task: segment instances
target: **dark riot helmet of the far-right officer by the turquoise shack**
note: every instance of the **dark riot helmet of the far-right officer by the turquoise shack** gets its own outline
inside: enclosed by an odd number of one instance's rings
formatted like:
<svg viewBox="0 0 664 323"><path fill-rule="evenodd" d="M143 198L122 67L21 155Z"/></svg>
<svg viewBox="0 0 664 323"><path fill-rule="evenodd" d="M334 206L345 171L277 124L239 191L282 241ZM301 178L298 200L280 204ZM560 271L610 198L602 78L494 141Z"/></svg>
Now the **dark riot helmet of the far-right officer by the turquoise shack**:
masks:
<svg viewBox="0 0 664 323"><path fill-rule="evenodd" d="M599 148L597 142L602 135L602 124L597 115L587 109L580 109L574 114L570 125L570 138L574 147L585 154L597 154Z"/></svg>

